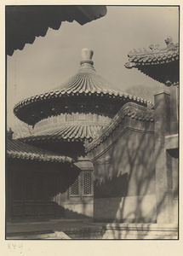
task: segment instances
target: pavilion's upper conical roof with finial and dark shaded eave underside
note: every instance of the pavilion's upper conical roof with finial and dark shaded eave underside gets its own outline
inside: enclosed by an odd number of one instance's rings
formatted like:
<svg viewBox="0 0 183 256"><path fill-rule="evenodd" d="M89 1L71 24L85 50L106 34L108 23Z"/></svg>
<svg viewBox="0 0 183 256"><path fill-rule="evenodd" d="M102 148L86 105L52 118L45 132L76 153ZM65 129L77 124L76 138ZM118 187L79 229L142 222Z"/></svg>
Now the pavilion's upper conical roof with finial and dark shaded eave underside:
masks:
<svg viewBox="0 0 183 256"><path fill-rule="evenodd" d="M116 111L123 106L124 102L139 102L142 105L146 105L146 100L118 91L106 79L98 75L93 66L93 54L94 52L91 49L83 49L82 61L80 61L77 74L54 90L31 96L17 103L14 106L14 114L27 124L35 125L40 119L45 119L51 115L67 112L92 112L91 105L97 105L94 101L96 98L100 105L103 102L104 107L100 106L98 108L97 106L98 109L96 110L95 106L93 106L95 112L102 112L102 109L105 108L106 113L111 111L116 114ZM75 98L74 103L73 97ZM91 98L90 102L89 97ZM99 101L100 97L103 98L102 101ZM109 100L110 98L112 100ZM110 105L108 102L112 104Z"/></svg>

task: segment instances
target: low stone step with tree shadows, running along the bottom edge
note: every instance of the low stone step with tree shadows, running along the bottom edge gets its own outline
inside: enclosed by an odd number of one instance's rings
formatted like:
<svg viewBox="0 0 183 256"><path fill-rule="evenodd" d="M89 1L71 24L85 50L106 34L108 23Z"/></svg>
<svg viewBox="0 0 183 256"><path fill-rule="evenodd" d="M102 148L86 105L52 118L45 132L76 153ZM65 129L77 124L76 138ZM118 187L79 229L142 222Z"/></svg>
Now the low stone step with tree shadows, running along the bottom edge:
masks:
<svg viewBox="0 0 183 256"><path fill-rule="evenodd" d="M56 230L57 224L55 230L46 230L46 226L44 228L37 231L37 226L34 231L10 232L7 233L7 239L178 239L177 224L73 223L63 225L60 230Z"/></svg>

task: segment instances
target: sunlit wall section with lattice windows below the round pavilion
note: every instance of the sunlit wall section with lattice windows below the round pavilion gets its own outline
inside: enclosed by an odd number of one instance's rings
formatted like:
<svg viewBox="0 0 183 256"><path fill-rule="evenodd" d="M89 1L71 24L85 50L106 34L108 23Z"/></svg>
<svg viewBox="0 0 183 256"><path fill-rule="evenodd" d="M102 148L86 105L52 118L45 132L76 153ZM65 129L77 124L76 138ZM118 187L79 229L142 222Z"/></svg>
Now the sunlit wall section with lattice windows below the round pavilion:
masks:
<svg viewBox="0 0 183 256"><path fill-rule="evenodd" d="M93 166L87 158L77 160L75 165L80 172L77 176L77 183L75 183L73 188L71 186L67 187L66 193L57 195L57 203L60 207L64 208L64 218L93 218ZM86 173L89 175L87 177L91 177L91 179L84 180ZM72 185L74 184L73 181L71 182Z"/></svg>

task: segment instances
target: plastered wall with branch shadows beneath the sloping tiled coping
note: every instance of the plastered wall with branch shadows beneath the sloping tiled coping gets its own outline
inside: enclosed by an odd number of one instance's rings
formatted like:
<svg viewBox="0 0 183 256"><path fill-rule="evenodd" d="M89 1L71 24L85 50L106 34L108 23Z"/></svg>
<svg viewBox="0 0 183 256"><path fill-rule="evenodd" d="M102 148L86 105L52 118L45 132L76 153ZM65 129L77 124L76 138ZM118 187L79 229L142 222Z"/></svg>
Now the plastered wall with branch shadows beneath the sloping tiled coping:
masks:
<svg viewBox="0 0 183 256"><path fill-rule="evenodd" d="M89 153L94 164L94 220L156 222L153 123L126 117Z"/></svg>

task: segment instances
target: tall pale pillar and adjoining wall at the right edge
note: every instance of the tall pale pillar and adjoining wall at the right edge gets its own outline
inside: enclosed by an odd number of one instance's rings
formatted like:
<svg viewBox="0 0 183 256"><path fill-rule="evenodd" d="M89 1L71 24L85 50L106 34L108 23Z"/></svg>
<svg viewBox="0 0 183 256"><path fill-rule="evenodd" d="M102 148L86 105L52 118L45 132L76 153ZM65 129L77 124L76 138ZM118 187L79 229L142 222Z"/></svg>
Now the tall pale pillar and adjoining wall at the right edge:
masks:
<svg viewBox="0 0 183 256"><path fill-rule="evenodd" d="M177 223L179 138L176 87L159 91L155 99L157 223Z"/></svg>

